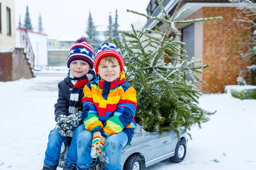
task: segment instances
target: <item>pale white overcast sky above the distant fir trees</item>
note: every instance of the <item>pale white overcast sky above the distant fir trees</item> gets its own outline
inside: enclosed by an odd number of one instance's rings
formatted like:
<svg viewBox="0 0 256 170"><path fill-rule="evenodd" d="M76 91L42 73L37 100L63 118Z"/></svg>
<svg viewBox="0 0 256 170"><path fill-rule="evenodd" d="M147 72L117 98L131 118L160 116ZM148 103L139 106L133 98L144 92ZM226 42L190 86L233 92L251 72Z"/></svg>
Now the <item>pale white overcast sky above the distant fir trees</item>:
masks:
<svg viewBox="0 0 256 170"><path fill-rule="evenodd" d="M15 20L18 26L19 15L23 25L26 5L34 31L38 31L38 16L41 12L44 33L48 38L77 39L84 35L87 27L89 11L96 26L108 26L111 12L114 23L115 12L118 10L119 30L131 30L131 23L136 28L145 25L146 17L128 13L132 9L146 13L150 0L15 0Z"/></svg>

